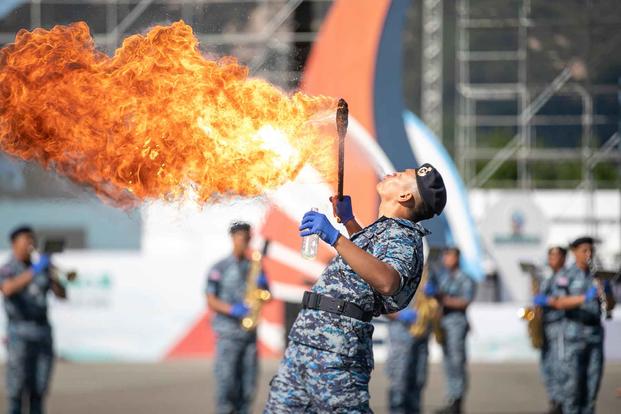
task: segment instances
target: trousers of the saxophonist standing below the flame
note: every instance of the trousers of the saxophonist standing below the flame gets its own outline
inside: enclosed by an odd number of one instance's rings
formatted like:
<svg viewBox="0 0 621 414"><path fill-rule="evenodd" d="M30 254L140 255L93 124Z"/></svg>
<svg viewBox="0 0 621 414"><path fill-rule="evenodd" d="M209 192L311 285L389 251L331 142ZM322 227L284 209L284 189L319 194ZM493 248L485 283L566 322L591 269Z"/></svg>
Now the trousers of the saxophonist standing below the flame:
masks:
<svg viewBox="0 0 621 414"><path fill-rule="evenodd" d="M216 342L216 412L248 414L258 372L256 335L220 335Z"/></svg>

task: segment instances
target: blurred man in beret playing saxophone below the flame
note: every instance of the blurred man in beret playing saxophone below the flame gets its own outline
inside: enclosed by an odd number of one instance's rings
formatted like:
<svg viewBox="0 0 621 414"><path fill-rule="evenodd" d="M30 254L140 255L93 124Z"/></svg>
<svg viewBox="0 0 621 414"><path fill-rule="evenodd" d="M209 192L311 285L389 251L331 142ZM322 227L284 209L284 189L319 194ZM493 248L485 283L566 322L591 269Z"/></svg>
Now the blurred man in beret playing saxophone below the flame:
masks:
<svg viewBox="0 0 621 414"><path fill-rule="evenodd" d="M256 330L245 330L241 325L250 311L244 303L250 270L246 257L250 225L235 222L229 234L232 253L216 263L207 275L207 304L216 313L212 322L217 335L216 411L246 414L252 409L258 370ZM269 289L264 272L257 278L257 285Z"/></svg>

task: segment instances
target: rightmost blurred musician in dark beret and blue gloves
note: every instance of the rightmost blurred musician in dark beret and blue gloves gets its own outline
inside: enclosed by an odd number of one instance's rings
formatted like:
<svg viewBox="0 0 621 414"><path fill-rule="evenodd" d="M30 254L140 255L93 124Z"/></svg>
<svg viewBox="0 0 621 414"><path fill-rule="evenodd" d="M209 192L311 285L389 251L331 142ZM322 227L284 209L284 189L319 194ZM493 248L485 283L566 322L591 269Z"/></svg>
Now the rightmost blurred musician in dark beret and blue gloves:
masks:
<svg viewBox="0 0 621 414"><path fill-rule="evenodd" d="M610 283L594 280L591 237L571 243L575 263L567 270L567 295L548 297L546 303L564 311L563 318L563 414L592 414L604 366L604 327L601 323L600 293L608 309L615 306ZM602 291L600 291L600 289Z"/></svg>

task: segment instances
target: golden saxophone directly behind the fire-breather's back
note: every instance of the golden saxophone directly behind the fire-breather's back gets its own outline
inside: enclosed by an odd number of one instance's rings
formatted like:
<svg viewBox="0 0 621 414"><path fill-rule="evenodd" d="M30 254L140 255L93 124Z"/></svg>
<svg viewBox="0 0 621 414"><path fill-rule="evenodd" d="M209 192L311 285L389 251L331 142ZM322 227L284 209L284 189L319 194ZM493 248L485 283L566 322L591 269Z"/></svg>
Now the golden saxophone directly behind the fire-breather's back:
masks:
<svg viewBox="0 0 621 414"><path fill-rule="evenodd" d="M424 286L429 279L429 254L428 260L425 261L423 267L423 275L419 283L419 289L414 295L414 309L416 309L416 322L410 326L410 335L421 338L428 332L429 327L433 330L436 341L439 344L444 342L444 332L440 325L442 318L442 309L437 299L428 297L423 292Z"/></svg>

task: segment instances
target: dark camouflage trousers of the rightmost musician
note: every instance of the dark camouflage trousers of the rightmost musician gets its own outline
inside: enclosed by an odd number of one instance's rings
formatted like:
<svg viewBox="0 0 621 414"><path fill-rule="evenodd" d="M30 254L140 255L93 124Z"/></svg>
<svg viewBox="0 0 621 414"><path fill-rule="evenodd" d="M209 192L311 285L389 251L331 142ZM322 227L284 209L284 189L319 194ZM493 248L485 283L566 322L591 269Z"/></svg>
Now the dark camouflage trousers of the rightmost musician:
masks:
<svg viewBox="0 0 621 414"><path fill-rule="evenodd" d="M604 370L603 340L567 341L564 366L563 414L594 414Z"/></svg>

